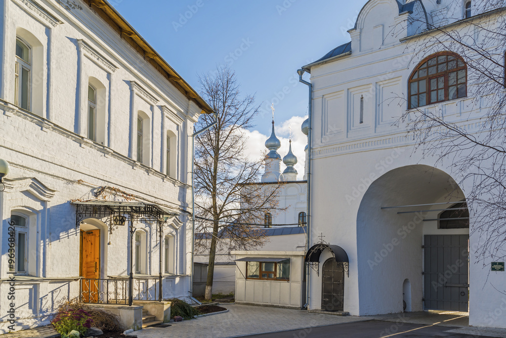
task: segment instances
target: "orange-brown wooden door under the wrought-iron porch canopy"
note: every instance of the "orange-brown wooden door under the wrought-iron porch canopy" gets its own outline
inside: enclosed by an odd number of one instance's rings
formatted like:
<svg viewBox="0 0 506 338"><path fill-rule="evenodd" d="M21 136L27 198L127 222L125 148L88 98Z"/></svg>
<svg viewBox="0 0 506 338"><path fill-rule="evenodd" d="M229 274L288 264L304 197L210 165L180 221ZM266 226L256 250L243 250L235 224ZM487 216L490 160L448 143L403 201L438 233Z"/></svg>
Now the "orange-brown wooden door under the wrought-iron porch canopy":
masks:
<svg viewBox="0 0 506 338"><path fill-rule="evenodd" d="M100 230L81 231L79 267L81 297L86 303L98 303L100 278Z"/></svg>

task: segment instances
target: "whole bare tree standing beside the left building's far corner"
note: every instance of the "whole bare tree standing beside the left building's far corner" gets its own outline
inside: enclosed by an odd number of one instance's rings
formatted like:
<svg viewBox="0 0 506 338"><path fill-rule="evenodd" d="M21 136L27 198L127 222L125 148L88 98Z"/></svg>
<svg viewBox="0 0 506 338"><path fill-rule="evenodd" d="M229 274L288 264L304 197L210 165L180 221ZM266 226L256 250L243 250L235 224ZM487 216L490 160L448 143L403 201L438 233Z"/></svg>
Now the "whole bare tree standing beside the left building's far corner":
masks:
<svg viewBox="0 0 506 338"><path fill-rule="evenodd" d="M195 138L195 199L198 233L195 250L209 253L205 299L212 298L217 246L251 249L266 239L264 215L278 209L278 185L255 184L262 160L246 154L244 131L251 128L259 111L253 96L241 96L234 72L218 68L199 76L202 96L218 113L218 123ZM198 124L214 122L201 115Z"/></svg>

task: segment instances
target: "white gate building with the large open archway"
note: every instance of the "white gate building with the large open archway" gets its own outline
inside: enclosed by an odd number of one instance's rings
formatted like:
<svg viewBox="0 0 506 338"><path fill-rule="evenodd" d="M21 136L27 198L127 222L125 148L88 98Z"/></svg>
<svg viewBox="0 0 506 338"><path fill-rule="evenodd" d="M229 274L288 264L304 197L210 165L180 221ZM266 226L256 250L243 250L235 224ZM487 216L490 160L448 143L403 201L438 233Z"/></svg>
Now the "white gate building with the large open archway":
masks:
<svg viewBox="0 0 506 338"><path fill-rule="evenodd" d="M458 30L481 22L475 10L470 1L370 0L351 42L303 67L312 83L310 238L321 239L306 258L316 270L309 310L386 314L402 312L404 301L406 311L469 309L471 325L506 327L504 296L493 287L502 290L506 274L468 251L480 243L465 200L471 186L455 183L450 158L436 165L413 151L404 125L393 125L412 106L441 109L469 128L478 123L485 110L470 104L466 63L444 44L438 55L414 48L427 29L418 19ZM503 46L490 49L504 55ZM448 80L431 87L438 76ZM406 100L386 101L397 96Z"/></svg>

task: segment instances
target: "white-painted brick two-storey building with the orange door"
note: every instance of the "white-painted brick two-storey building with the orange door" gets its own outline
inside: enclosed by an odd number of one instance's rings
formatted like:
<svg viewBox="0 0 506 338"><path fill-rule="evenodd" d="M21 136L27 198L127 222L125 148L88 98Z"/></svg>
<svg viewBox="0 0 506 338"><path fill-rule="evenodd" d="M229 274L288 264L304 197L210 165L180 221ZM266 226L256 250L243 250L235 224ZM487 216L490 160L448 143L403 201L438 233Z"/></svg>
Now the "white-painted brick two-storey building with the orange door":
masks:
<svg viewBox="0 0 506 338"><path fill-rule="evenodd" d="M162 299L188 297L189 135L212 109L105 1L0 12L0 333L80 292L128 304L131 272L135 299L160 279Z"/></svg>

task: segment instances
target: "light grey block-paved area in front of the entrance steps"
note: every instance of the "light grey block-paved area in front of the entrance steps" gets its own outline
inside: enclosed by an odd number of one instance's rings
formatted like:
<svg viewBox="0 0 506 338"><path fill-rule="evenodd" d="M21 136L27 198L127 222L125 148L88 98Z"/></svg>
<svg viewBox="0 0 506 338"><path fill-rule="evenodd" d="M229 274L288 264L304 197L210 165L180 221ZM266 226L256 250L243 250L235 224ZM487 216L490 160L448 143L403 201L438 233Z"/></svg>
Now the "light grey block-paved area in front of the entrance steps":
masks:
<svg viewBox="0 0 506 338"><path fill-rule="evenodd" d="M138 338L225 338L367 320L354 316L340 317L260 306L238 304L221 306L230 311L195 320L172 322L172 326L166 328L149 327L135 331L135 334Z"/></svg>

